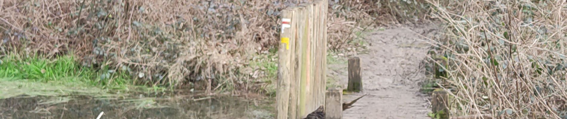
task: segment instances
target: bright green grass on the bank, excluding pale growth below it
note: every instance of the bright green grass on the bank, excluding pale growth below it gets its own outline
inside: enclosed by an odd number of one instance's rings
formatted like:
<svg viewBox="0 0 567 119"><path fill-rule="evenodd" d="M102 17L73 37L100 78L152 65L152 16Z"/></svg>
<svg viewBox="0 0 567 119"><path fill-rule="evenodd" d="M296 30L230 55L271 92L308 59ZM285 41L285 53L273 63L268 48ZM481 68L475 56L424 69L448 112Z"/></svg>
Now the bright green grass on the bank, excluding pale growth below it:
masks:
<svg viewBox="0 0 567 119"><path fill-rule="evenodd" d="M133 85L127 71L108 69L104 65L99 69L83 67L71 55L54 59L9 55L0 59L0 78L44 83L84 83L109 89L127 89Z"/></svg>

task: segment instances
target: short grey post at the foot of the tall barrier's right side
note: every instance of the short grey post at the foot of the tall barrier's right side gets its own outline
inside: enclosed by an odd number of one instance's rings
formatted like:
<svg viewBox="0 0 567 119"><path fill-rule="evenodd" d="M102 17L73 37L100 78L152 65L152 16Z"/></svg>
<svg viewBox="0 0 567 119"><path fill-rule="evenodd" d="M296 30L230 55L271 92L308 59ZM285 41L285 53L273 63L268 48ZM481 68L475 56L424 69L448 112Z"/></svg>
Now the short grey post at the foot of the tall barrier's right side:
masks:
<svg viewBox="0 0 567 119"><path fill-rule="evenodd" d="M325 119L342 119L342 90L329 89L325 98Z"/></svg>

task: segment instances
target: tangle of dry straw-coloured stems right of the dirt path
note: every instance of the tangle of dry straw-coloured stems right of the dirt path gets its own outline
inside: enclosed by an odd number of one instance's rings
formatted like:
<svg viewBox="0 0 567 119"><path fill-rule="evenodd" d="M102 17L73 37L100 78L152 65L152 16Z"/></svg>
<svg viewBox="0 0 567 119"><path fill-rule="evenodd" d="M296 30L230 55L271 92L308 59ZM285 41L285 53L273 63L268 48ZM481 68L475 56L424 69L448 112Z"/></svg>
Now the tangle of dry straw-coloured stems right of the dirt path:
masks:
<svg viewBox="0 0 567 119"><path fill-rule="evenodd" d="M453 116L567 118L565 1L428 1Z"/></svg>

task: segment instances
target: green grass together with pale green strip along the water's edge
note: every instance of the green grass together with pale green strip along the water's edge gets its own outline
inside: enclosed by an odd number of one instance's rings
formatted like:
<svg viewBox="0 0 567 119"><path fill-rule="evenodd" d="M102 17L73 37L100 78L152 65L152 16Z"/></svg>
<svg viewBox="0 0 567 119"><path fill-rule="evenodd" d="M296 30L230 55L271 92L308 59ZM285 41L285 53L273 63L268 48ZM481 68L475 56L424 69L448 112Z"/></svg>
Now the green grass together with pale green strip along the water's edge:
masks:
<svg viewBox="0 0 567 119"><path fill-rule="evenodd" d="M71 55L54 59L9 55L0 58L0 99L14 96L89 95L117 97L128 92L167 91L162 86L136 86L128 69L84 67Z"/></svg>

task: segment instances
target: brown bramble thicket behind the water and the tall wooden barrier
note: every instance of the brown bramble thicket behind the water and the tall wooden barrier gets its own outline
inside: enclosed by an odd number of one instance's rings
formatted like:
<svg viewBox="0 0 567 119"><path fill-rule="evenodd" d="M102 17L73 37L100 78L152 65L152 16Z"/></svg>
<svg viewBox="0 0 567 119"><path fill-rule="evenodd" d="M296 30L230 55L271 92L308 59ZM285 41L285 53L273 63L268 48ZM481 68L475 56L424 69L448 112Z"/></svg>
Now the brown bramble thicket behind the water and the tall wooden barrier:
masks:
<svg viewBox="0 0 567 119"><path fill-rule="evenodd" d="M84 67L117 69L137 84L255 90L266 85L255 80L266 75L257 74L265 68L249 63L274 61L258 55L277 46L279 11L304 2L0 1L0 57L71 54ZM332 50L350 47L358 30L408 21L378 20L385 16L417 18L417 12L396 6L417 2L329 3Z"/></svg>

